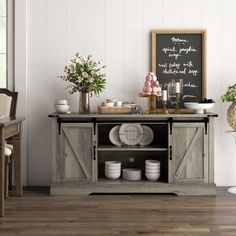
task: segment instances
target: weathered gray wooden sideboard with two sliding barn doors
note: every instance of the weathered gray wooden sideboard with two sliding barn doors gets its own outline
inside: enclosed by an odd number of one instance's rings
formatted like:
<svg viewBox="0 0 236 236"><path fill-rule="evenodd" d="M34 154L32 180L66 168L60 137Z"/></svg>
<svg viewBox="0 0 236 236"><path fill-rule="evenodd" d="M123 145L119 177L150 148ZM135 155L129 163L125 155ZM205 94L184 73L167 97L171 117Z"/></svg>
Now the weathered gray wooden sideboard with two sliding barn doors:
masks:
<svg viewBox="0 0 236 236"><path fill-rule="evenodd" d="M214 117L216 114L56 114L52 118L52 195L90 193L175 193L215 195ZM115 146L110 130L124 123L149 126L148 146ZM145 179L145 160L161 162L161 177ZM104 163L142 169L141 181L109 180ZM132 160L132 161L130 161Z"/></svg>

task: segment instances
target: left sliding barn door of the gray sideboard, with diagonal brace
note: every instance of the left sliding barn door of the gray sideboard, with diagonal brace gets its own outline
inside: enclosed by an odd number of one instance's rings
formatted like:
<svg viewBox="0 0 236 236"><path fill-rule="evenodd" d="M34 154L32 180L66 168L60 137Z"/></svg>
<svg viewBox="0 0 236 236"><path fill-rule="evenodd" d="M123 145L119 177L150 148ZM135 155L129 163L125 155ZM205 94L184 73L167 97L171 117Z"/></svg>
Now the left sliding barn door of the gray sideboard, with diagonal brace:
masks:
<svg viewBox="0 0 236 236"><path fill-rule="evenodd" d="M64 123L61 126L61 181L92 179L93 126Z"/></svg>

